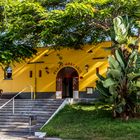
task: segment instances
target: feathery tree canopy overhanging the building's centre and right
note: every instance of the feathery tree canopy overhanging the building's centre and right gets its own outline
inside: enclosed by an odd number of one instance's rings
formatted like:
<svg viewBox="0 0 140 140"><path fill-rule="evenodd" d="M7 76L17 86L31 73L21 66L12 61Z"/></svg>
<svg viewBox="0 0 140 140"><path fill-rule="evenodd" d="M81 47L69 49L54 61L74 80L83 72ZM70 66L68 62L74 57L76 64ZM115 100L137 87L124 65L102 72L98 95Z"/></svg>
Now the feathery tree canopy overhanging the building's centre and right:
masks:
<svg viewBox="0 0 140 140"><path fill-rule="evenodd" d="M128 16L129 34L139 34L140 4L136 0L75 0L64 9L48 12L42 32L45 44L79 48L106 40L114 41L113 19ZM135 29L135 30L134 30Z"/></svg>

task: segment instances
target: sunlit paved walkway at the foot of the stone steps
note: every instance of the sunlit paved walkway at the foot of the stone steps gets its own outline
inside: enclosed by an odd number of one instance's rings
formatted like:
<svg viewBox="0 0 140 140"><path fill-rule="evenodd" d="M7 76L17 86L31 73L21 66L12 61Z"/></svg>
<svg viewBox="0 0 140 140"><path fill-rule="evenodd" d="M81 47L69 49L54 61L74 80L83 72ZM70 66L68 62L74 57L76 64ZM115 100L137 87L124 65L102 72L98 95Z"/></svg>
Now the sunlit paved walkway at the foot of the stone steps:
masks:
<svg viewBox="0 0 140 140"><path fill-rule="evenodd" d="M24 134L12 134L0 132L0 140L61 140L60 138L36 138L34 136Z"/></svg>

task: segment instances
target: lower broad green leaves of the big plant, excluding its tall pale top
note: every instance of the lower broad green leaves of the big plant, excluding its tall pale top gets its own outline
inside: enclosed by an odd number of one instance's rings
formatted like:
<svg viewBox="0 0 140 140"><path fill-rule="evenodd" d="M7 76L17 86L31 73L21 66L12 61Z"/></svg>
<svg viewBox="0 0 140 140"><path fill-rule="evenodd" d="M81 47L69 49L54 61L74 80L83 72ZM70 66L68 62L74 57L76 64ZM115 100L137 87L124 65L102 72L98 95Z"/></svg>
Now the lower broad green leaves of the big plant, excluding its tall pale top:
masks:
<svg viewBox="0 0 140 140"><path fill-rule="evenodd" d="M116 50L117 52L118 50ZM136 51L136 50L135 50ZM136 67L134 59L138 53L132 55L131 52L128 60L125 59L126 65L122 65L122 57L119 55L115 58L110 56L109 68L107 71L106 79L97 81L97 89L102 95L105 103L113 105L114 117L116 114L133 116L137 105L137 93L140 90L139 86L139 67ZM133 56L133 57L132 57ZM124 54L123 54L123 57ZM114 67L112 59L116 60L117 65ZM130 63L131 62L131 63ZM119 64L119 65L118 65ZM116 67L118 67L116 69ZM100 85L100 86L99 86ZM124 117L124 116L121 116Z"/></svg>

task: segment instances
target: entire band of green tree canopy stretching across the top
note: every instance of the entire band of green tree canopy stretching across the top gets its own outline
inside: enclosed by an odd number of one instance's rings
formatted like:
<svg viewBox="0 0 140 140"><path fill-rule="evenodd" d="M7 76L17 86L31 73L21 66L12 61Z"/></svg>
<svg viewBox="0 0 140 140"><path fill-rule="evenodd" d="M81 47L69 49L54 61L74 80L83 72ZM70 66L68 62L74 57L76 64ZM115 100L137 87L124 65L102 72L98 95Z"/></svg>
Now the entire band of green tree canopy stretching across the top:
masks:
<svg viewBox="0 0 140 140"><path fill-rule="evenodd" d="M138 36L139 7L137 0L2 0L1 65L32 56L38 46L80 48L115 42L113 19L118 15L128 15L129 34Z"/></svg>

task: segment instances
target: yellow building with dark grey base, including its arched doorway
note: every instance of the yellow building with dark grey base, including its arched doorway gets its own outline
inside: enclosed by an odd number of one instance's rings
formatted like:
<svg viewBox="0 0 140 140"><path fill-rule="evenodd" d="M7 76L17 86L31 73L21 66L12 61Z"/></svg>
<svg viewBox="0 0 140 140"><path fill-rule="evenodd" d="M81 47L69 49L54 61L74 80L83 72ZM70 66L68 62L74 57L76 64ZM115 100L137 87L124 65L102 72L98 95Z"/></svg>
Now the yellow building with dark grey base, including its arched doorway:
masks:
<svg viewBox="0 0 140 140"><path fill-rule="evenodd" d="M12 74L4 78L0 72L0 89L3 96L13 96L31 86L35 98L84 98L94 97L96 71L107 70L109 51L103 49L110 42L86 45L81 50L60 51L38 48L36 56L12 66ZM30 89L22 96L29 98Z"/></svg>

